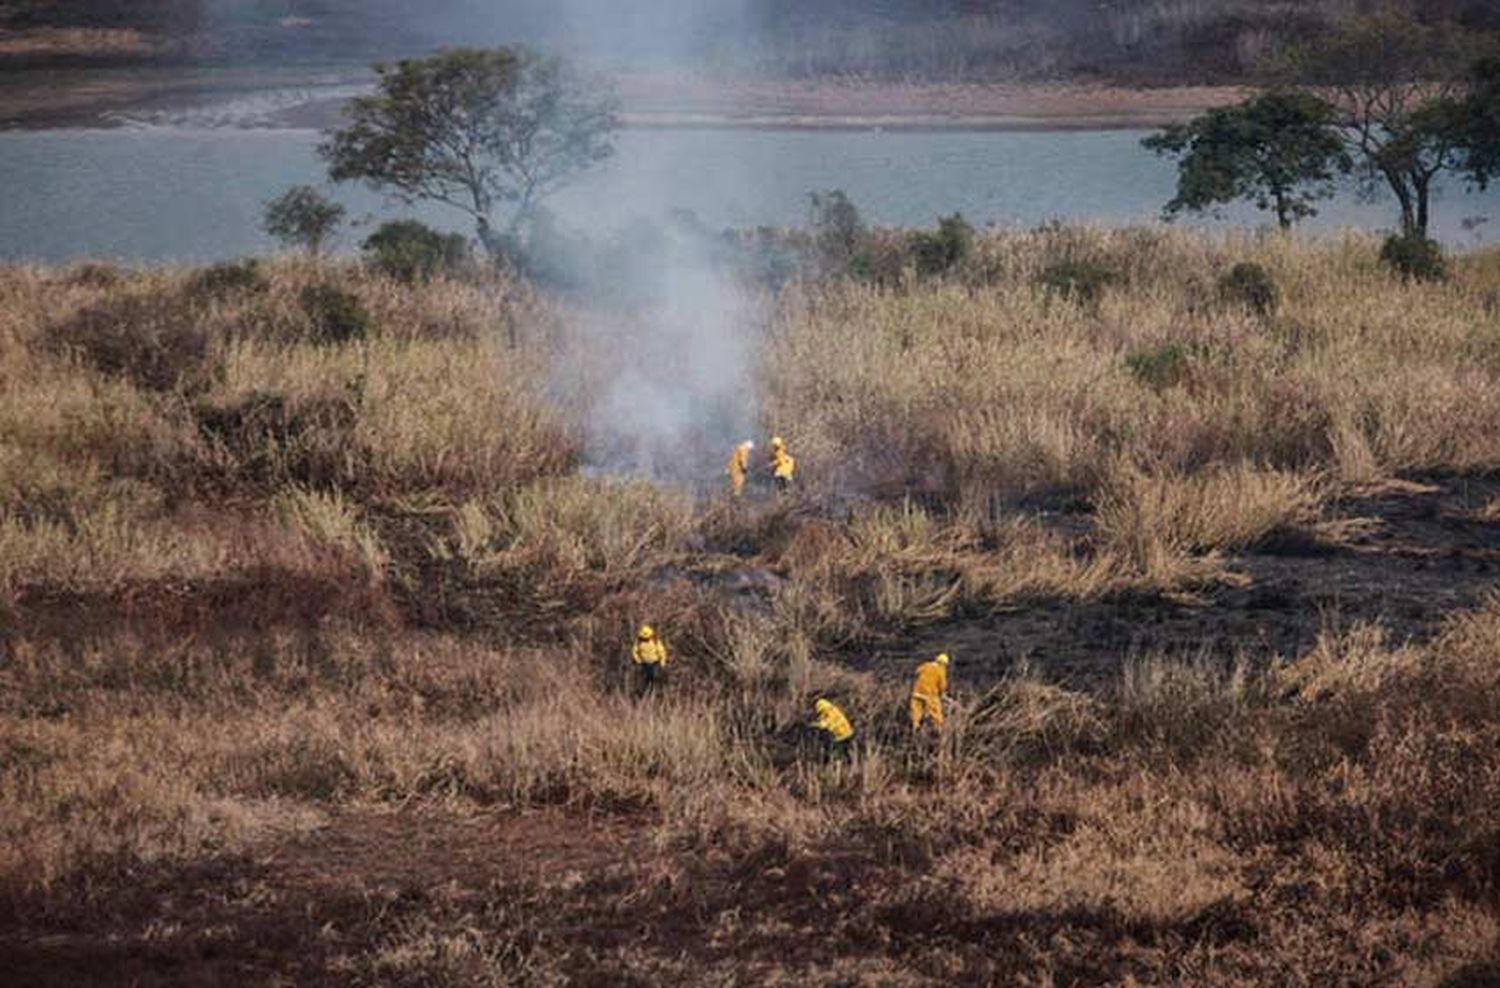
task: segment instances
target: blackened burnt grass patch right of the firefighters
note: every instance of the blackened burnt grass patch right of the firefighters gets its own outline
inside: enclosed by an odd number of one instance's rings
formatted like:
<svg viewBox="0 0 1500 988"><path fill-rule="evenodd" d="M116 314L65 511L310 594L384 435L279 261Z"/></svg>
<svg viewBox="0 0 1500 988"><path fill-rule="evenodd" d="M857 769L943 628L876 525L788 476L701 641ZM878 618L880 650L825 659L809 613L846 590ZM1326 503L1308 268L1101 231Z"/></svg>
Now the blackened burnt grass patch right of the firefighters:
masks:
<svg viewBox="0 0 1500 988"><path fill-rule="evenodd" d="M1352 523L1335 540L1274 535L1232 555L1230 574L1194 594L1122 594L1104 600L1035 600L992 615L916 628L897 648L876 648L862 664L897 675L909 654L952 649L975 682L994 682L1022 663L1088 687L1144 655L1300 655L1320 636L1356 624L1384 628L1395 642L1428 642L1443 621L1476 607L1500 579L1500 528L1476 511L1500 495L1492 477L1428 477L1329 505ZM1065 531L1088 519L1066 505L1044 513ZM852 657L861 664L861 658Z"/></svg>

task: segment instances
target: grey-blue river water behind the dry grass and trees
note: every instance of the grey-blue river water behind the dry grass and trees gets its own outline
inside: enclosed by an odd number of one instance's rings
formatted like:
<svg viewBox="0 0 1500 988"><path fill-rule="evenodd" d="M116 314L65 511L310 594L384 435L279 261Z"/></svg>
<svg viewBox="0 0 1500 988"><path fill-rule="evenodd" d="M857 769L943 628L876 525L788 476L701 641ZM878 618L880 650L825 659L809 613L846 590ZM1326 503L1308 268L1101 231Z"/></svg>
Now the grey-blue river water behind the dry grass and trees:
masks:
<svg viewBox="0 0 1500 988"><path fill-rule="evenodd" d="M621 133L616 156L555 199L572 225L603 229L692 210L711 226L800 223L807 193L843 189L876 223L930 225L962 211L976 225L1156 222L1174 166L1140 147L1144 130L880 132L662 129ZM274 249L266 199L318 184L318 133L296 129L136 126L0 132L0 259L204 261ZM357 225L416 214L464 229L462 216L338 187ZM1491 219L1491 222L1479 222ZM1305 229L1386 229L1389 196L1353 187ZM1260 226L1234 207L1208 226ZM1450 183L1434 231L1452 247L1500 238L1500 187Z"/></svg>

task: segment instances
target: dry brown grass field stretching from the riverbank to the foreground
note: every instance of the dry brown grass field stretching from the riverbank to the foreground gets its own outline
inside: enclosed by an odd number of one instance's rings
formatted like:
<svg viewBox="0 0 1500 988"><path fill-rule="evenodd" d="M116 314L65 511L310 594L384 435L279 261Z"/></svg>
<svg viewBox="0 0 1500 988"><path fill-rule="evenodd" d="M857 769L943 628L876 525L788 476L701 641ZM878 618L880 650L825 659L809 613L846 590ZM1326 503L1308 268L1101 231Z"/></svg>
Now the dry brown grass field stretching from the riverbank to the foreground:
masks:
<svg viewBox="0 0 1500 988"><path fill-rule="evenodd" d="M1500 984L1500 262L1377 246L794 282L742 502L500 276L0 270L6 984Z"/></svg>

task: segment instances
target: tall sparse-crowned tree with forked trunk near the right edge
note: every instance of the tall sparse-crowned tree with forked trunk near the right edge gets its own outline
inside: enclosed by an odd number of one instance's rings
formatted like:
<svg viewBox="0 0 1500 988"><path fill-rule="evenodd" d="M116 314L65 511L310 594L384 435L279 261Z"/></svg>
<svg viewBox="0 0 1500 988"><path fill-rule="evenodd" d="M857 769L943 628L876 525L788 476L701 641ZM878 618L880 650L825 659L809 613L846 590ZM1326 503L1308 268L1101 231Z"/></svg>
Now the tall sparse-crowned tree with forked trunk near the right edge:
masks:
<svg viewBox="0 0 1500 988"><path fill-rule="evenodd" d="M1470 39L1444 25L1382 13L1293 49L1281 66L1334 106L1334 126L1366 181L1383 181L1400 202L1404 237L1426 238L1434 181L1470 160L1474 54Z"/></svg>

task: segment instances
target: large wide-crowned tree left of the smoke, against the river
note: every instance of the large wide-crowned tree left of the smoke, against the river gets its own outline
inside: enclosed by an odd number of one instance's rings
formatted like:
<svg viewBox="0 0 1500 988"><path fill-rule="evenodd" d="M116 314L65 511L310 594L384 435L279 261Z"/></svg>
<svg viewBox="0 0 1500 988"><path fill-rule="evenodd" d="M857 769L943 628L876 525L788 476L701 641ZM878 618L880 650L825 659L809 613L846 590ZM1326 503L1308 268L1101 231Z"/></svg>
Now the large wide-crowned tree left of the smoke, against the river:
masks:
<svg viewBox="0 0 1500 988"><path fill-rule="evenodd" d="M453 48L375 66L376 91L320 147L336 181L468 213L504 253L536 207L614 153L615 97L526 48ZM508 210L502 235L490 222Z"/></svg>

